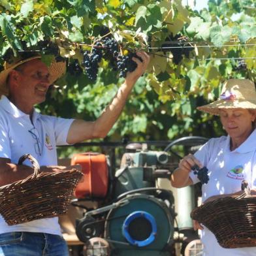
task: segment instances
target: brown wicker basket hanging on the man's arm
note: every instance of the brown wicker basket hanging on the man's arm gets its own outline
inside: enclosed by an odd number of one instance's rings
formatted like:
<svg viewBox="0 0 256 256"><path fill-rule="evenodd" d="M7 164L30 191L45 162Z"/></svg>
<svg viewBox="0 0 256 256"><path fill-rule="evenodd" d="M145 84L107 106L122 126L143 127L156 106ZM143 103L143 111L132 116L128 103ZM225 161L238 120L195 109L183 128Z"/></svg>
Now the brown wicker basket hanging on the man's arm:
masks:
<svg viewBox="0 0 256 256"><path fill-rule="evenodd" d="M25 159L31 161L34 173L0 187L0 214L8 225L65 214L74 188L83 175L74 168L40 172L37 160L29 154L20 157L18 165Z"/></svg>

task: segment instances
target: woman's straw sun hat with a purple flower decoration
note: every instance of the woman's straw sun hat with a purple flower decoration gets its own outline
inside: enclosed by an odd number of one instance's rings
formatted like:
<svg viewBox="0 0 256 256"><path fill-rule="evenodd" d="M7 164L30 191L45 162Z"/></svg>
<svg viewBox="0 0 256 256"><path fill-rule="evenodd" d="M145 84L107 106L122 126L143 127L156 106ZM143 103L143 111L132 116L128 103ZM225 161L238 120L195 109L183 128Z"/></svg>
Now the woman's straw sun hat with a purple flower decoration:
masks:
<svg viewBox="0 0 256 256"><path fill-rule="evenodd" d="M198 110L219 115L221 108L246 108L256 110L255 84L248 79L230 79L225 82L221 95L213 103L199 106Z"/></svg>

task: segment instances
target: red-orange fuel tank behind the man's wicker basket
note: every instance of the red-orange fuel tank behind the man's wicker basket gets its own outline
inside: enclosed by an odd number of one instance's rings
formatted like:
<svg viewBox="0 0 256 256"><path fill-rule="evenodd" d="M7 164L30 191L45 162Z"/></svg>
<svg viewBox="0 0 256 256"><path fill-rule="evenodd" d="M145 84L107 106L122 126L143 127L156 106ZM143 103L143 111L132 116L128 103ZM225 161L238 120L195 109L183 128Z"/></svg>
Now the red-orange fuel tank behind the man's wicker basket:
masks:
<svg viewBox="0 0 256 256"><path fill-rule="evenodd" d="M79 183L74 191L78 198L104 198L108 192L108 165L103 153L76 153L71 165L82 165L84 182Z"/></svg>

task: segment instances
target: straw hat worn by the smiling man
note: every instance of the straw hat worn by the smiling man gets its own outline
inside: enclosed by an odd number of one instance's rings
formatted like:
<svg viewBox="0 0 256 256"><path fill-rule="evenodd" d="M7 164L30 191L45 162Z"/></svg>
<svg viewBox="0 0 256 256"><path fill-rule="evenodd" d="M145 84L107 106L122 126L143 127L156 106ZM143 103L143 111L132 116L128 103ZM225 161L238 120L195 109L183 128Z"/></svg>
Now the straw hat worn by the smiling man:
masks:
<svg viewBox="0 0 256 256"><path fill-rule="evenodd" d="M11 63L8 65L6 64L5 70L0 72L0 95L8 95L8 88L7 88L7 78L12 71L12 69L15 69L16 67L22 65L23 63L27 61L31 61L32 59L40 59L41 56L33 56L29 57L27 59L18 60L14 63ZM55 60L52 61L52 64L50 67L48 67L49 70L49 81L51 84L53 84L58 78L60 78L66 71L66 63L65 61L59 61L56 62Z"/></svg>

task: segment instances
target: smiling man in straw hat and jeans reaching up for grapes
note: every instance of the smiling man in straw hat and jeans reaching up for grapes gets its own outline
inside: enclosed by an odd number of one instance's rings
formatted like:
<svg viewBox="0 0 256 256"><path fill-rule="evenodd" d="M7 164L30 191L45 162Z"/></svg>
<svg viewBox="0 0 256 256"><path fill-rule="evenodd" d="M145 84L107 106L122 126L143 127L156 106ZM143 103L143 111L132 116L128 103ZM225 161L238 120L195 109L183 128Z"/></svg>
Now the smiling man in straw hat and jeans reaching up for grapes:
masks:
<svg viewBox="0 0 256 256"><path fill-rule="evenodd" d="M49 86L65 71L65 63L48 68L40 56L10 65L0 73L0 186L22 180L33 173L27 165L17 165L25 153L33 155L41 170L57 171L56 146L91 138L104 138L121 114L136 80L144 73L150 57L138 52L138 67L128 73L110 104L96 121L44 116L34 109L46 98ZM67 256L57 217L8 226L0 216L0 256Z"/></svg>

